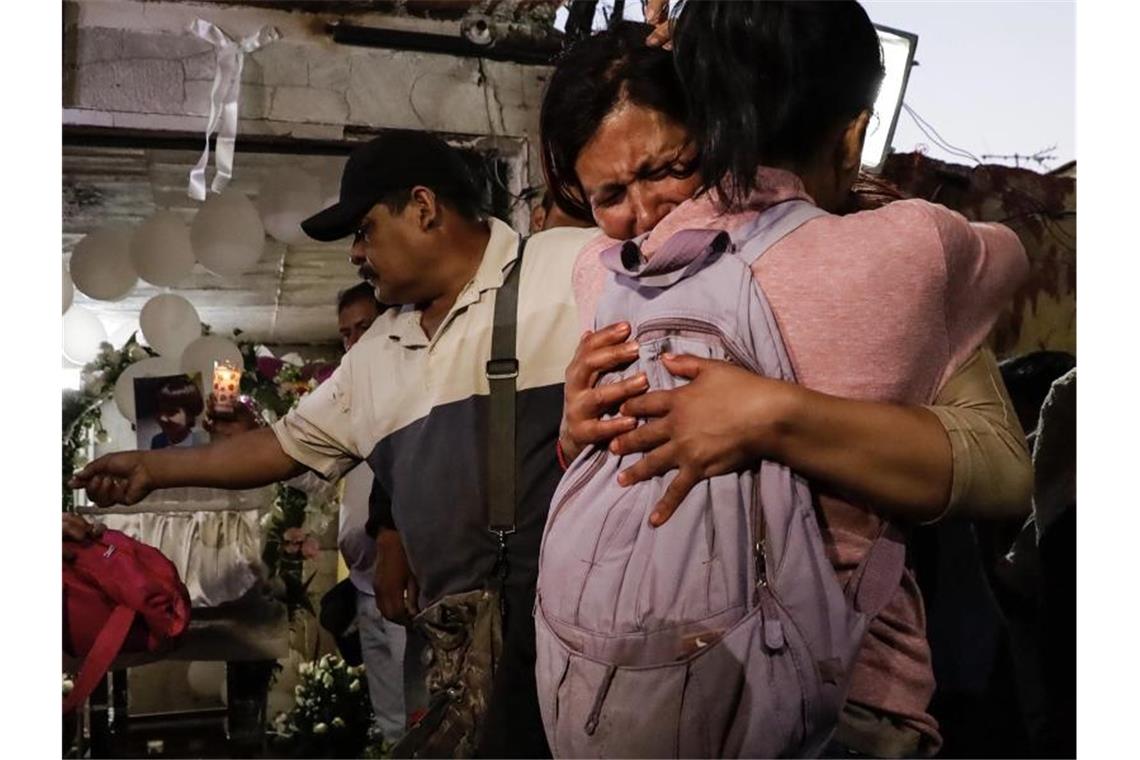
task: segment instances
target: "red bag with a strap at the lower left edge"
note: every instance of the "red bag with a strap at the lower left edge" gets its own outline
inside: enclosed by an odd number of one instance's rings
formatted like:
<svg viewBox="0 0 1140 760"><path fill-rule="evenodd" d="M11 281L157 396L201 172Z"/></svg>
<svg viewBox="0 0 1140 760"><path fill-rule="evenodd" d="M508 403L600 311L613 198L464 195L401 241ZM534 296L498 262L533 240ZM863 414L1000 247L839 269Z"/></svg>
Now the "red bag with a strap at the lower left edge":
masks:
<svg viewBox="0 0 1140 760"><path fill-rule="evenodd" d="M120 652L168 647L190 623L190 595L154 547L108 530L74 549L64 562L64 652L84 660L65 713L83 704Z"/></svg>

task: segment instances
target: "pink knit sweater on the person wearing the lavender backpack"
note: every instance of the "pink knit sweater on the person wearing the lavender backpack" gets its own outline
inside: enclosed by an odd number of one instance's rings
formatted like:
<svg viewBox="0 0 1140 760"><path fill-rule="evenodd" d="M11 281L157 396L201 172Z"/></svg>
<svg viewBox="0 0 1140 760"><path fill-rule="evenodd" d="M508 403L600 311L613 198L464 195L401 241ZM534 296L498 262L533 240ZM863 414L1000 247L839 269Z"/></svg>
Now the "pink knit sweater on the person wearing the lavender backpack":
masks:
<svg viewBox="0 0 1140 760"><path fill-rule="evenodd" d="M749 211L722 214L706 195L677 206L650 234L652 255L675 231L733 230L773 203L811 201L799 178L762 170ZM578 256L573 287L583 327L605 281L602 236ZM901 201L846 216L821 216L774 245L752 268L800 384L852 399L931 402L972 354L1020 286L1028 263L1017 236L970 223L925 201ZM597 327L604 327L598 325ZM868 508L816 489L832 564L846 580L878 534ZM911 572L872 622L850 701L898 716L940 743L927 712L934 693L922 598Z"/></svg>

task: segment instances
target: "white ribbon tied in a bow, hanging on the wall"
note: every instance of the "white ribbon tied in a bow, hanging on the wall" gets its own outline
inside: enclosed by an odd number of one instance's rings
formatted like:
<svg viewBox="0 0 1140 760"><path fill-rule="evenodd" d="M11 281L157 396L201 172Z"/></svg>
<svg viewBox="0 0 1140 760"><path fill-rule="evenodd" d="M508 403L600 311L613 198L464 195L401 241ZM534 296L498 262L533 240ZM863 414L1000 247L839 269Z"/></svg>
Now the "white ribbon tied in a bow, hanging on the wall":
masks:
<svg viewBox="0 0 1140 760"><path fill-rule="evenodd" d="M255 33L235 42L207 21L190 24L190 33L212 44L218 54L218 67L210 90L210 119L206 121L206 147L197 165L190 170L188 193L195 201L206 199L206 164L210 163L210 136L218 132L214 157L214 179L210 186L221 193L234 175L234 141L237 138L237 97L242 88L242 63L245 54L280 39L272 26L262 26Z"/></svg>

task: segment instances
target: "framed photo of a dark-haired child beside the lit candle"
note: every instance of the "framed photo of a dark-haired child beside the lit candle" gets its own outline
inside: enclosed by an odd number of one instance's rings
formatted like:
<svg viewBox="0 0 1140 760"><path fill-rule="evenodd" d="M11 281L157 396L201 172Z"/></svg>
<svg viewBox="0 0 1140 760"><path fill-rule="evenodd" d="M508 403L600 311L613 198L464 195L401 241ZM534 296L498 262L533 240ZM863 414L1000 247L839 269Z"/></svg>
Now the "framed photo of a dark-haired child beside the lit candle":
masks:
<svg viewBox="0 0 1140 760"><path fill-rule="evenodd" d="M210 436L201 426L205 401L195 377L166 375L135 378L139 449L186 448L210 442Z"/></svg>

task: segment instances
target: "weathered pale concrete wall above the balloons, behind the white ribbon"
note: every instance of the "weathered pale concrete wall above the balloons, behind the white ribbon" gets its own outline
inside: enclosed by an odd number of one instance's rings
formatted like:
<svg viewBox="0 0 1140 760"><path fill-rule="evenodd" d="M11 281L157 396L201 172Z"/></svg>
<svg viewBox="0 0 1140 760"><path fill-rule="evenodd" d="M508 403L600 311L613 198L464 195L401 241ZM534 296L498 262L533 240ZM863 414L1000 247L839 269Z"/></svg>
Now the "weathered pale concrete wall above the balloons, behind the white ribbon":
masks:
<svg viewBox="0 0 1140 760"><path fill-rule="evenodd" d="M211 46L188 31L196 18L231 38L263 25L282 34L245 58L238 146L241 134L352 140L378 129L431 130L513 158L510 189L516 195L540 183L530 144L538 134L547 67L337 44L325 31L326 23L343 18L333 14L138 0L66 2L64 125L204 131L215 60ZM457 22L359 11L349 19L459 34Z"/></svg>

